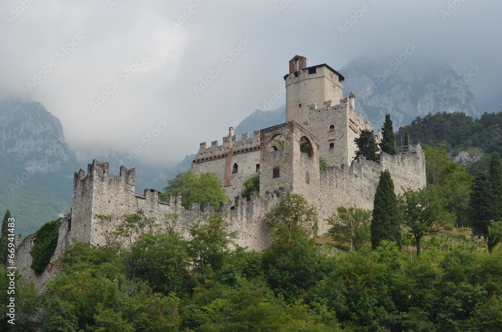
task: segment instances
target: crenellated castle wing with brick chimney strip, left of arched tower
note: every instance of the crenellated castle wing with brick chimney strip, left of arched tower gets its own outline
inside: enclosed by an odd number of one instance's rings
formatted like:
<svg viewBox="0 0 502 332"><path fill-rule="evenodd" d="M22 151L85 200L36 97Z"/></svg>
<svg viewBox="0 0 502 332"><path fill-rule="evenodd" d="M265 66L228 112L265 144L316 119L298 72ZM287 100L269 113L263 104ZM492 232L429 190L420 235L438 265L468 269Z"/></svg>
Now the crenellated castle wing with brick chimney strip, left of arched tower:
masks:
<svg viewBox="0 0 502 332"><path fill-rule="evenodd" d="M254 137L243 133L241 140L237 140L233 132L230 137L232 139L223 137L222 145L218 145L218 141L212 141L211 147L207 147L206 142L201 143L191 169L198 173L216 173L227 197L234 199L242 190L245 179L257 172L257 165L260 167L260 131L255 130ZM237 172L234 172L235 164Z"/></svg>

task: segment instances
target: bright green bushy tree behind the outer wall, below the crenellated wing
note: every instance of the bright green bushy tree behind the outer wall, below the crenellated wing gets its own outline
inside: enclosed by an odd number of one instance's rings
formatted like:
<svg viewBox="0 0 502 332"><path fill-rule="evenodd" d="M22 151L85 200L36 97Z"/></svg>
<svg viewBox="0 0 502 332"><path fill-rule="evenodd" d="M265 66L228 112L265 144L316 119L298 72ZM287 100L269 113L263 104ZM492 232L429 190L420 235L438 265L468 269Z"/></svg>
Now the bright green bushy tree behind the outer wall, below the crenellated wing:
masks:
<svg viewBox="0 0 502 332"><path fill-rule="evenodd" d="M204 203L209 203L217 210L220 202L230 202L225 196L223 184L216 174L211 172L197 174L188 170L178 173L175 178L167 181L161 199L166 200L168 194L175 197L181 195L181 205L185 209L188 209L191 203L200 204L201 209Z"/></svg>

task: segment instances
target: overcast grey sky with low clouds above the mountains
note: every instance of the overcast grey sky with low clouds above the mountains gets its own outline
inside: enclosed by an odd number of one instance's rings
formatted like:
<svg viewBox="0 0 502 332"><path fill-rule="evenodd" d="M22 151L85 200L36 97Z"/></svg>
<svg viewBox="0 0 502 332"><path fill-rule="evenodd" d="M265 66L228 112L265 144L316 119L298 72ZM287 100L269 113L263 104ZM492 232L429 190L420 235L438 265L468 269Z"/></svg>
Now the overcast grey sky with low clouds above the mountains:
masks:
<svg viewBox="0 0 502 332"><path fill-rule="evenodd" d="M42 102L73 149L139 145L168 166L264 108L297 54L340 69L415 43L416 60L460 75L477 64L471 91L495 98L501 12L487 0L4 0L0 95Z"/></svg>

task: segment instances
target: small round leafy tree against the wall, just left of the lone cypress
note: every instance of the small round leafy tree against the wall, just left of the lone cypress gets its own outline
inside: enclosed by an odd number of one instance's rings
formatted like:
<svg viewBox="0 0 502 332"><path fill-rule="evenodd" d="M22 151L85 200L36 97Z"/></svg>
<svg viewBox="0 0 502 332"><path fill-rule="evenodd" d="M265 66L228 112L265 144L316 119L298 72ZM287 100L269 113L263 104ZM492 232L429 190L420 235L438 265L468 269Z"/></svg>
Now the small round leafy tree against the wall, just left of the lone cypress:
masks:
<svg viewBox="0 0 502 332"><path fill-rule="evenodd" d="M332 227L329 234L338 243L351 242L354 251L362 249L369 239L371 210L339 207L326 221Z"/></svg>

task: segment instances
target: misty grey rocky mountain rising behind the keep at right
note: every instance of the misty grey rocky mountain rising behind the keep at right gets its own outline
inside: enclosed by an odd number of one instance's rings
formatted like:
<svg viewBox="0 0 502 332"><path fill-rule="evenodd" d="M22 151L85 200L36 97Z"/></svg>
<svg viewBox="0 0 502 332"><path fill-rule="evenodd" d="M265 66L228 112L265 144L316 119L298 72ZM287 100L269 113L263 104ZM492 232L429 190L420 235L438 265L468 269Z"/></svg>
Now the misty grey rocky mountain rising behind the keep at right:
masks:
<svg viewBox="0 0 502 332"><path fill-rule="evenodd" d="M356 111L375 128L384 122L386 113L395 127L428 113L480 115L467 83L449 65L405 62L396 68L356 60L340 72L345 76L344 93L354 91Z"/></svg>

